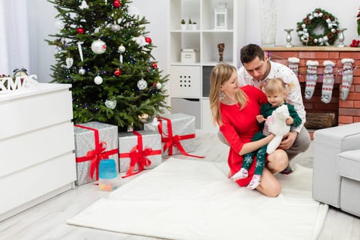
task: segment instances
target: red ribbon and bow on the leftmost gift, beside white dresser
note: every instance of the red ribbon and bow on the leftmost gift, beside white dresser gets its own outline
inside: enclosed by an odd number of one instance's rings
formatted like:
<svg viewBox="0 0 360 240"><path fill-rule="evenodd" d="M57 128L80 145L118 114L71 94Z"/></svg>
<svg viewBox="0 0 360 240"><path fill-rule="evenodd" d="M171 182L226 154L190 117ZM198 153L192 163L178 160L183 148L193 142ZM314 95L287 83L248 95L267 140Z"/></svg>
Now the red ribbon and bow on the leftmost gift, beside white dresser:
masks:
<svg viewBox="0 0 360 240"><path fill-rule="evenodd" d="M75 158L75 160L76 160L76 163L82 163L82 162L91 160L91 165L90 165L91 179L93 179L94 171L96 170L96 180L98 180L99 179L99 163L100 163L100 161L103 159L109 158L109 156L112 154L117 154L118 149L115 148L115 149L112 149L109 151L105 151L107 144L106 144L106 142L100 143L99 130L97 130L95 128L89 128L84 125L75 125L75 127L84 128L84 129L91 130L94 132L95 149L88 151L85 156Z"/></svg>

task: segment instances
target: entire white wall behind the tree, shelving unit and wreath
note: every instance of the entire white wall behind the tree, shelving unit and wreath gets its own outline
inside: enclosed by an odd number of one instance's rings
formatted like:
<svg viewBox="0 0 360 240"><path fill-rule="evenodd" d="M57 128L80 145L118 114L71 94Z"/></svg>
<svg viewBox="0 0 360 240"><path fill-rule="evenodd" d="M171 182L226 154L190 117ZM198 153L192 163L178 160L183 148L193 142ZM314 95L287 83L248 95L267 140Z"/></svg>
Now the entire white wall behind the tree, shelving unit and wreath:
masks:
<svg viewBox="0 0 360 240"><path fill-rule="evenodd" d="M54 17L56 10L53 5L46 0L28 0L34 4L28 4L29 8L33 8L34 14L32 18L31 39L32 46L32 66L33 74L38 75L40 82L49 82L50 65L55 62L53 54L55 50L45 43L44 39L49 38L48 34L56 32L54 27ZM203 0L206 1L206 0ZM239 0L239 36L238 49L248 43L261 43L260 29L260 0ZM352 39L359 39L357 36L357 13L359 12L360 3L356 4L353 0L343 0L341 2L335 0L303 0L303 1L284 1L275 0L277 10L277 27L276 27L276 45L284 46L286 44L285 28L293 28L291 32L293 45L301 45L296 35L296 23L315 8L322 8L337 17L340 27L347 27L344 32L346 45L351 43ZM167 73L167 55L169 48L167 10L169 9L169 0L133 0L133 4L141 10L141 14L150 22L147 30L150 32L149 37L152 38L154 45L153 56L158 60L160 69ZM35 24L36 23L36 24ZM238 60L239 61L239 60Z"/></svg>

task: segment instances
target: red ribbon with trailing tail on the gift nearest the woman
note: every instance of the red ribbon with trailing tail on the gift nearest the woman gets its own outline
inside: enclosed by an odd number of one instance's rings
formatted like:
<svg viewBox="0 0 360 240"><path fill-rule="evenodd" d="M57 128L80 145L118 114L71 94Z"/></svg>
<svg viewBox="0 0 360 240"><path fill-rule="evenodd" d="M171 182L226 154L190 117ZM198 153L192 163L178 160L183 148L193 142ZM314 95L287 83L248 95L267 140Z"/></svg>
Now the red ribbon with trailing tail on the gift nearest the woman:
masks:
<svg viewBox="0 0 360 240"><path fill-rule="evenodd" d="M166 151L166 149L169 148L169 156L171 156L173 154L173 147L178 147L179 151L185 155L185 156L192 156L194 158L204 158L204 156L196 156L196 155L191 155L188 154L184 147L182 147L180 141L181 140L185 140L185 139L194 139L195 138L195 134L187 134L187 135L175 135L173 136L173 127L171 125L171 120L167 119L165 117L157 117L158 118L158 131L161 134L161 142L165 143L164 147L163 147L163 152ZM167 121L167 134L165 134L165 132L163 131L163 121L161 121L161 119L164 119L165 121Z"/></svg>

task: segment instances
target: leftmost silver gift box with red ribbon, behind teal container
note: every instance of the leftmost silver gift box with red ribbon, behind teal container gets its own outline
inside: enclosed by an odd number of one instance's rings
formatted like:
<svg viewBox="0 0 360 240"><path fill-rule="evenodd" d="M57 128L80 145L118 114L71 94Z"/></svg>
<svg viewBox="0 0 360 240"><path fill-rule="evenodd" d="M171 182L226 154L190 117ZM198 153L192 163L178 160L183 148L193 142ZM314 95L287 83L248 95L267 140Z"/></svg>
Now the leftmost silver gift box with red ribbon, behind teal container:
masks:
<svg viewBox="0 0 360 240"><path fill-rule="evenodd" d="M74 134L77 186L98 179L101 159L115 159L119 169L116 125L91 121L74 125Z"/></svg>

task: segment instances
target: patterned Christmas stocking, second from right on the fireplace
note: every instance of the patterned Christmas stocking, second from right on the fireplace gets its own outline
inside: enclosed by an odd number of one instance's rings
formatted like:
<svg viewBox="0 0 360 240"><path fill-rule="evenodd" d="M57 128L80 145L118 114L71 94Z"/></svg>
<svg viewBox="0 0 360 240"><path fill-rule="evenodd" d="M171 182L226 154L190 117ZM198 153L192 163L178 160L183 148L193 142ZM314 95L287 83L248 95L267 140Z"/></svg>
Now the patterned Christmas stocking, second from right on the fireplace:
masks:
<svg viewBox="0 0 360 240"><path fill-rule="evenodd" d="M333 95L335 62L325 60L323 65L325 68L324 79L322 80L321 101L324 104L328 104L331 101L331 95Z"/></svg>

